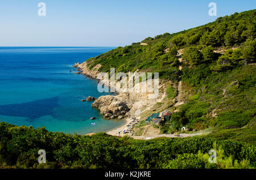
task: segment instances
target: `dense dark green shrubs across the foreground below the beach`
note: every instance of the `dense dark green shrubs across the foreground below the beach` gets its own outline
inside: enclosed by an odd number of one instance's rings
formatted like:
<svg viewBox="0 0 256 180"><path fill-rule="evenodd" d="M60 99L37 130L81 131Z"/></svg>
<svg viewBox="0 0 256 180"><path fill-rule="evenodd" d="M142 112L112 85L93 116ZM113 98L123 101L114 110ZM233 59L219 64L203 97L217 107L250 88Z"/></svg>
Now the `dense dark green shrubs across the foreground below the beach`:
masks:
<svg viewBox="0 0 256 180"><path fill-rule="evenodd" d="M255 168L255 144L212 137L135 140L0 123L1 168ZM46 164L38 151L46 151ZM216 149L217 163L209 163Z"/></svg>

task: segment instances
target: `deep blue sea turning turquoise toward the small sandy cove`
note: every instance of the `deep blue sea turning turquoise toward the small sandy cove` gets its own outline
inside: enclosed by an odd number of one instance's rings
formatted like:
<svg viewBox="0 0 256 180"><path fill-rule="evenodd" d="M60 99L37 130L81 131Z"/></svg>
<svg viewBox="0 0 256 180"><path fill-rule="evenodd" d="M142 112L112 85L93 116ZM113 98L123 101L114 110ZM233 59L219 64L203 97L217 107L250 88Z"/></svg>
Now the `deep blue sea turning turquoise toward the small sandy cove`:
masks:
<svg viewBox="0 0 256 180"><path fill-rule="evenodd" d="M68 134L104 132L122 126L123 121L102 118L90 106L92 102L81 102L87 96L107 93L99 93L96 80L75 74L72 67L75 62L112 49L0 47L0 121L44 126Z"/></svg>

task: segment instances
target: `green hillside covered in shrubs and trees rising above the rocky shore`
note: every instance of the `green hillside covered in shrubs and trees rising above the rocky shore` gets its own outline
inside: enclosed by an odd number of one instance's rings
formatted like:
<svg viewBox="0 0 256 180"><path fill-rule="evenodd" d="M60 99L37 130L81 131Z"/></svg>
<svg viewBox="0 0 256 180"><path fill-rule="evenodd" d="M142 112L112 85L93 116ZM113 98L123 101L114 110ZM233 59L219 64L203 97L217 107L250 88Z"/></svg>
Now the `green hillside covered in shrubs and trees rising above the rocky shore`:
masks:
<svg viewBox="0 0 256 180"><path fill-rule="evenodd" d="M235 13L215 22L179 33L147 37L142 43L118 47L88 59L89 68L100 71L159 72L165 80L183 82L184 105L171 119L169 133L186 126L189 130L253 127L255 138L256 10ZM182 62L177 50L183 50ZM182 66L182 70L179 70ZM174 98L175 87L167 89ZM171 104L166 108L174 109ZM212 114L216 114L213 117ZM250 139L250 140L253 140Z"/></svg>

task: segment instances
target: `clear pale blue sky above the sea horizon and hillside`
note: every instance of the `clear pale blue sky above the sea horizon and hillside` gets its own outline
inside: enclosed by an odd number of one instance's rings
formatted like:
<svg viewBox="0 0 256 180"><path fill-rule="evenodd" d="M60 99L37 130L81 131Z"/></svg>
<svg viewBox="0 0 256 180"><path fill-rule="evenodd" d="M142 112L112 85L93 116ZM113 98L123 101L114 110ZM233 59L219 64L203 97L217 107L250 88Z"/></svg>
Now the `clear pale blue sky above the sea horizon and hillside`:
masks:
<svg viewBox="0 0 256 180"><path fill-rule="evenodd" d="M254 8L255 0L1 0L0 46L125 46Z"/></svg>

